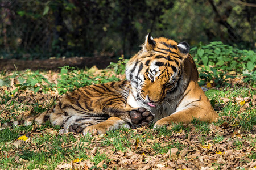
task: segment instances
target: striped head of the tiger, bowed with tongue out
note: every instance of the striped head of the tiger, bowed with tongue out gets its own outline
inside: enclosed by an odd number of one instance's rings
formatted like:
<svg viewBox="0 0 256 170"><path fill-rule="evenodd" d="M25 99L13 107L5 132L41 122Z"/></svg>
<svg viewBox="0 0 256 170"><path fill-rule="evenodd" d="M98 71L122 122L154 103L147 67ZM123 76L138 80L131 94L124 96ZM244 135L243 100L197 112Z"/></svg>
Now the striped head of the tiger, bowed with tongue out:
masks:
<svg viewBox="0 0 256 170"><path fill-rule="evenodd" d="M148 33L142 49L126 65L126 78L137 90L137 101L155 107L163 103L167 94L176 91L181 86L183 61L188 52L187 42L153 39Z"/></svg>

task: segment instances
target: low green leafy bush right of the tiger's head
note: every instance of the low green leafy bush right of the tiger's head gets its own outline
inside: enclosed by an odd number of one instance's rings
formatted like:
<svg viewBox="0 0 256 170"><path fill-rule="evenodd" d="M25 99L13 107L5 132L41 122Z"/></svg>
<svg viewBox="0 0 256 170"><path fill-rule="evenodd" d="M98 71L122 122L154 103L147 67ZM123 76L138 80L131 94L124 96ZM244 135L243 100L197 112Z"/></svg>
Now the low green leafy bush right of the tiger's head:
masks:
<svg viewBox="0 0 256 170"><path fill-rule="evenodd" d="M244 76L245 82L256 82L256 55L252 50L240 50L216 41L199 44L191 49L191 54L200 70L200 85L210 80L214 80L217 87L228 85L225 79L233 78L230 74Z"/></svg>

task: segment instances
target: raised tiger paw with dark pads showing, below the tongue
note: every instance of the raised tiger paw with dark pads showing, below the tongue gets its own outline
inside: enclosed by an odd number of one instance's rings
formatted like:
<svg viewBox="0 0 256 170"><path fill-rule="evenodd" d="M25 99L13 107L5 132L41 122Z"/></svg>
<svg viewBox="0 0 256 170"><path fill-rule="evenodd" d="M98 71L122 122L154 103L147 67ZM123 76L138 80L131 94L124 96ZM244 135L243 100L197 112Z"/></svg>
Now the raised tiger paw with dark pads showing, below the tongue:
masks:
<svg viewBox="0 0 256 170"><path fill-rule="evenodd" d="M154 114L145 108L138 108L137 110L130 111L129 114L131 122L137 125L146 126L154 119Z"/></svg>

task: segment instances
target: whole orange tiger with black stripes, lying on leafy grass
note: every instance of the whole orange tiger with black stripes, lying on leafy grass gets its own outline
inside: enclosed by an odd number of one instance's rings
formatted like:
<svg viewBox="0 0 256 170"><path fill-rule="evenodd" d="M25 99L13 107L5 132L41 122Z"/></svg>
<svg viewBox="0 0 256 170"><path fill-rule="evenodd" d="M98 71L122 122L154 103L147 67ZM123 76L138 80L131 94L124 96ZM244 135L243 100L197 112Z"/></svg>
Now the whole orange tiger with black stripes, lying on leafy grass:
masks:
<svg viewBox="0 0 256 170"><path fill-rule="evenodd" d="M218 114L197 83L199 74L187 42L148 33L141 50L126 64L126 80L92 84L68 92L47 111L14 125L59 125L68 132L105 134L154 124L213 122Z"/></svg>

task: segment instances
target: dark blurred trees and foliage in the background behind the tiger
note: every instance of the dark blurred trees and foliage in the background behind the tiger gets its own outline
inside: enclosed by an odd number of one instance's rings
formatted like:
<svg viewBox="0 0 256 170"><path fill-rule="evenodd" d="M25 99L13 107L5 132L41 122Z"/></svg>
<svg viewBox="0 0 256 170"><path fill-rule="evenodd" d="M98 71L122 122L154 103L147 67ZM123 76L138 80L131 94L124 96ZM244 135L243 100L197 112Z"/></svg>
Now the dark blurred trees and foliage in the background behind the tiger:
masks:
<svg viewBox="0 0 256 170"><path fill-rule="evenodd" d="M255 50L255 9L253 0L2 0L0 58L129 58L148 32Z"/></svg>

